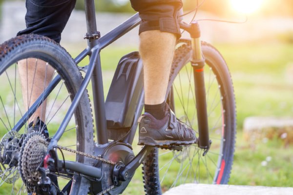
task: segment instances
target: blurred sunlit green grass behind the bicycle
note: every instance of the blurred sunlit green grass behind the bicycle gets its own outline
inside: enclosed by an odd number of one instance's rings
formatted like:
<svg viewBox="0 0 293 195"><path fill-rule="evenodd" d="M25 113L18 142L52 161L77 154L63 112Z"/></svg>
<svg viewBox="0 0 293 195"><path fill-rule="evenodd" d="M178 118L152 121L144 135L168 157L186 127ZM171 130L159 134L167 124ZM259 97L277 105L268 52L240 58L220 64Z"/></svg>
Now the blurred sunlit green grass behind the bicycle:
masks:
<svg viewBox="0 0 293 195"><path fill-rule="evenodd" d="M293 187L293 146L285 146L277 138L248 143L242 134L246 117L291 117L293 45L271 41L215 46L230 68L236 97L238 129L230 184ZM71 54L76 56L79 51L70 48ZM102 51L105 91L119 59L134 50L137 49L110 47ZM82 63L86 65L88 62L84 60ZM134 145L135 154L139 149ZM143 193L141 168L138 168L124 194ZM7 192L2 186L0 195L4 194Z"/></svg>

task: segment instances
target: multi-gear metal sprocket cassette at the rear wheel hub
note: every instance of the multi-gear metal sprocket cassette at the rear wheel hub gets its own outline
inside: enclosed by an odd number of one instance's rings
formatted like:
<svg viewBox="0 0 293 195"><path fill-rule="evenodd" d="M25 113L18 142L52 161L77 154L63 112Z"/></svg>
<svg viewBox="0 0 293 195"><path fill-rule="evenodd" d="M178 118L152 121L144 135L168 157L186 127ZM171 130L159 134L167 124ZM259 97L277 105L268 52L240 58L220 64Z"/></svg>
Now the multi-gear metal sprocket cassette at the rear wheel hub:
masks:
<svg viewBox="0 0 293 195"><path fill-rule="evenodd" d="M21 178L29 190L38 186L38 167L43 161L47 152L46 139L40 132L27 134L21 146L21 156L19 158L19 171Z"/></svg>

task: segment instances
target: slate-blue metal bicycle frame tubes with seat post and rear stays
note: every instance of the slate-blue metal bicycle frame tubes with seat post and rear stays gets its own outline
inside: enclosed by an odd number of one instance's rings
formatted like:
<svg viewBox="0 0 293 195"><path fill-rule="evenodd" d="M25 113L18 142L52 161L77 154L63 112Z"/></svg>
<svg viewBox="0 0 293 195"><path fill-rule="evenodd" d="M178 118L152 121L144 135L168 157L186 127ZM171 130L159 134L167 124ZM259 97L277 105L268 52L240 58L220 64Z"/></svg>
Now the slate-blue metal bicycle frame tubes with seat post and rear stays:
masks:
<svg viewBox="0 0 293 195"><path fill-rule="evenodd" d="M96 18L95 18L95 9L94 9L94 0L85 0L85 15L86 15L86 26L87 34L97 33ZM117 28L105 34L105 36L100 39L89 39L88 47L78 55L74 60L76 63L79 63L86 56L90 57L90 61L86 70L86 75L84 81L74 97L71 106L68 109L67 114L65 115L57 133L51 139L48 149L56 146L58 140L62 137L66 126L69 123L70 118L72 117L78 102L80 101L82 94L84 93L89 81L92 79L92 89L93 89L93 99L94 99L94 112L96 116L96 127L98 136L98 144L105 144L108 142L106 135L106 119L105 119L105 99L104 99L104 88L103 88L103 79L102 79L102 70L101 70L101 58L100 52L103 48L114 42L115 40L122 37L124 34L129 32L131 29L139 25L141 19L139 18L138 13L133 15L131 18L126 20L124 23L119 25ZM29 118L37 110L37 108L42 104L42 101L48 97L50 92L54 87L61 81L61 78L57 76L54 78L42 95L36 100L36 102L31 106L31 108L23 115L21 120L13 128L14 131L19 131L24 125L26 118ZM140 98L143 99L143 98ZM140 102L142 103L142 102ZM142 106L138 106L141 107ZM134 128L133 128L134 129ZM135 129L134 129L135 130ZM132 134L130 134L132 135ZM132 135L134 137L134 134ZM131 138L127 138L128 141ZM133 140L133 139L132 139ZM132 142L132 141L131 141ZM129 143L129 142L128 142Z"/></svg>

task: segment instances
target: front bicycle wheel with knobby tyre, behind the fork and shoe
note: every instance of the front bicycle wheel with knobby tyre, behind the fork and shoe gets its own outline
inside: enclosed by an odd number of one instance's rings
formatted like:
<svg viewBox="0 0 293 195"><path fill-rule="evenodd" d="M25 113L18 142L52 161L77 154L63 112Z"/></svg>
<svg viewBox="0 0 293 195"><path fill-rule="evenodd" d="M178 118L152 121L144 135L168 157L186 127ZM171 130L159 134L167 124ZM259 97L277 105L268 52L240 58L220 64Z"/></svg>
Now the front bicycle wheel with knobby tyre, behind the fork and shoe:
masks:
<svg viewBox="0 0 293 195"><path fill-rule="evenodd" d="M179 40L169 78L167 102L176 117L196 131L197 114L193 69L190 65L191 42ZM197 144L182 151L154 148L143 164L145 192L162 194L184 183L227 184L232 166L236 132L235 101L230 73L220 53L202 42L206 59L204 69L207 94L209 138L206 156Z"/></svg>

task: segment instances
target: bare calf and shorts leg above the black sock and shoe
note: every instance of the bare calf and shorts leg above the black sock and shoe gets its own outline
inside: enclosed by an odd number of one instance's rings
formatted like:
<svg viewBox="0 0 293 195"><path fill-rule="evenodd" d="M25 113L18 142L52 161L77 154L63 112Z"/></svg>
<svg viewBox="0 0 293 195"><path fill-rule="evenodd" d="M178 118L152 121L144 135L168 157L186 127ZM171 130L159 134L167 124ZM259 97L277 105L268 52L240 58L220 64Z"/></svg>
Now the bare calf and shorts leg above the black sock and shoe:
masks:
<svg viewBox="0 0 293 195"><path fill-rule="evenodd" d="M131 0L139 12L140 55L144 62L145 104L165 100L176 37L180 37L177 11L181 0Z"/></svg>

